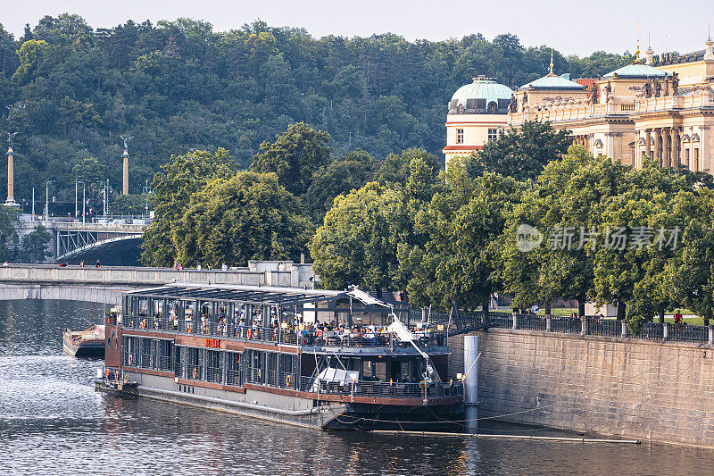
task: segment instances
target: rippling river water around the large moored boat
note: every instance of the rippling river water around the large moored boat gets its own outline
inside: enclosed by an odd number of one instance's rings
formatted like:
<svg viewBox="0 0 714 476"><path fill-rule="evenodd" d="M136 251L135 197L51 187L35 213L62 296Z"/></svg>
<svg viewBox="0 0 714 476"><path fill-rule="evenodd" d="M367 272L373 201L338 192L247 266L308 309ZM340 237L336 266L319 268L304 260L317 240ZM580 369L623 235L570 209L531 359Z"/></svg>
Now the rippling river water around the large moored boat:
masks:
<svg viewBox="0 0 714 476"><path fill-rule="evenodd" d="M102 313L0 301L0 473L714 473L714 454L693 448L323 432L112 397L92 383L102 361L62 355L62 329L85 329Z"/></svg>

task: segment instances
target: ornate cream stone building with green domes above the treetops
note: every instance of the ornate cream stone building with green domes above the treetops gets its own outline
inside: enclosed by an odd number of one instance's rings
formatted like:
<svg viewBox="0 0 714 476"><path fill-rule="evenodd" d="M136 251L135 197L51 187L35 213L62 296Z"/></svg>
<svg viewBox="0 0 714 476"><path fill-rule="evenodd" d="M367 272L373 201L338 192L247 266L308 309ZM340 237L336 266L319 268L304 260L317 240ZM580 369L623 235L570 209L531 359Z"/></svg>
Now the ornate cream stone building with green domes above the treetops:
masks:
<svg viewBox="0 0 714 476"><path fill-rule="evenodd" d="M477 105L469 99L484 95L473 85L462 87L449 104L446 163L483 146L498 128L519 129L524 121L537 120L571 130L575 142L594 155L635 167L650 157L663 167L714 171L714 42L708 39L704 46L661 57L648 49L643 62L598 79L572 81L554 74L551 63L546 76L522 86L510 100L511 90L496 85L494 110L469 108ZM474 84L479 81L486 79Z"/></svg>

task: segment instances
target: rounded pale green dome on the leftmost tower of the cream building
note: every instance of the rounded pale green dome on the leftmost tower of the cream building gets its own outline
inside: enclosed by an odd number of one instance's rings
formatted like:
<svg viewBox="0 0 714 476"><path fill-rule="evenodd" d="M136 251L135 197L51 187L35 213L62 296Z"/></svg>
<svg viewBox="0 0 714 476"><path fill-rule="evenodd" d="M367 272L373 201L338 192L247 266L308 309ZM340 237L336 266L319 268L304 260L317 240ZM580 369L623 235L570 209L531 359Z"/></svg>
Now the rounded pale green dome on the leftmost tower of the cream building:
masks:
<svg viewBox="0 0 714 476"><path fill-rule="evenodd" d="M484 114L508 113L513 91L494 81L478 77L474 82L461 86L449 102L449 113Z"/></svg>

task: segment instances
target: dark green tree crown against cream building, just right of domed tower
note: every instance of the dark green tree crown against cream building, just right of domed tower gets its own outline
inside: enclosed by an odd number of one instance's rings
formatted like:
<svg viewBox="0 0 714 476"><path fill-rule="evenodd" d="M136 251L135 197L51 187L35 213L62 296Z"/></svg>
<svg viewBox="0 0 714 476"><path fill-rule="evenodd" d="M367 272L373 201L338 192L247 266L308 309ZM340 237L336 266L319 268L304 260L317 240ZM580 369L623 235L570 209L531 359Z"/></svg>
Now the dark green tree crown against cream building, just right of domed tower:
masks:
<svg viewBox="0 0 714 476"><path fill-rule="evenodd" d="M469 171L499 173L515 180L535 179L545 164L568 152L570 131L552 129L550 122L525 121L520 130L499 132L469 163Z"/></svg>

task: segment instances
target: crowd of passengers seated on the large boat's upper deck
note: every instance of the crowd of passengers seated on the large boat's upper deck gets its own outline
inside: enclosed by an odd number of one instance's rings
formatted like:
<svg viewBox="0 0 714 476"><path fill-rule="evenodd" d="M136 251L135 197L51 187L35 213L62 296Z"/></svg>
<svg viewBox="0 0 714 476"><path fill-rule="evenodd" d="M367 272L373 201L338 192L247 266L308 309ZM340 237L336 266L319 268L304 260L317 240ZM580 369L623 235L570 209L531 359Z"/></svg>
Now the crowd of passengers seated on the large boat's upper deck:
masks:
<svg viewBox="0 0 714 476"><path fill-rule="evenodd" d="M361 343L376 346L386 344L391 334L387 326L373 323L353 326L335 320L305 323L301 313L284 314L283 322L280 324L275 308L270 308L270 322L266 326L263 322L261 309L256 308L251 315L248 315L245 306L242 305L234 313L233 323L228 322L228 313L224 308L219 309L215 321L212 321L207 309L204 309L200 319L195 321L193 308L187 307L184 321L184 325L181 327L179 316L173 309L170 309L168 322L164 323L162 313L156 312L152 320L148 317L141 319L140 327L162 330L166 325L168 330L255 340L278 340L278 335L282 335L281 340L297 341L299 339L308 345ZM280 332L278 332L278 327ZM413 326L411 332L422 341L428 340L432 334L432 330L421 323Z"/></svg>

